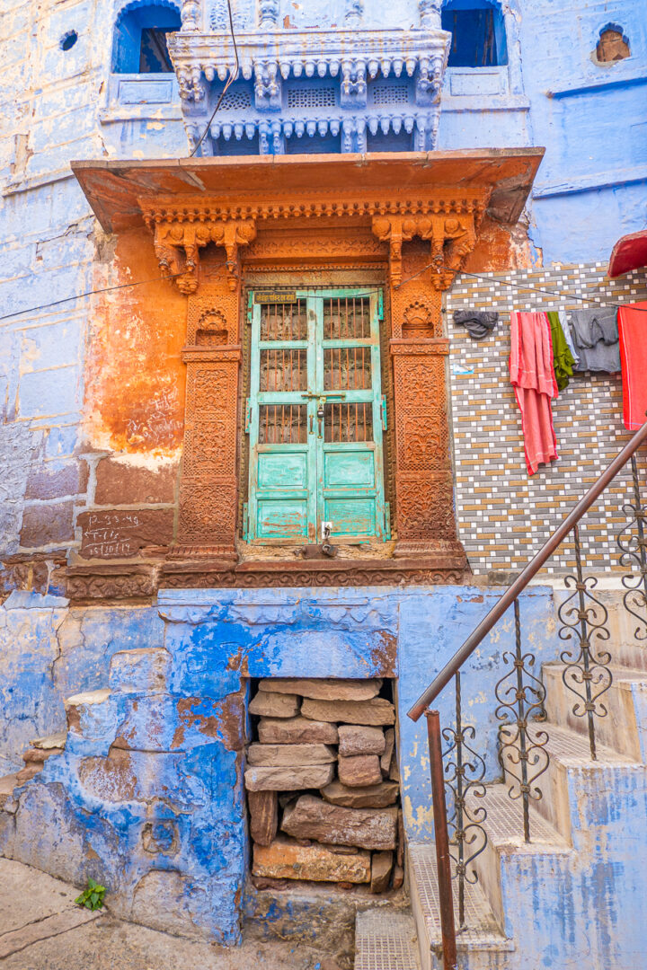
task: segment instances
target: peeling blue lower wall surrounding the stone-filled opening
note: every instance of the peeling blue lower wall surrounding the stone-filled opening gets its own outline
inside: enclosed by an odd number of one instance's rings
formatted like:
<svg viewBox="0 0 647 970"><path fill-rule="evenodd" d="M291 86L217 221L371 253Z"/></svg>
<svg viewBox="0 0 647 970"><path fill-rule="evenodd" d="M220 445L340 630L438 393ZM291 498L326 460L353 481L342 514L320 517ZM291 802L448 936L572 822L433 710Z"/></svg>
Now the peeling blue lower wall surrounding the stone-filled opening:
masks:
<svg viewBox="0 0 647 970"><path fill-rule="evenodd" d="M113 636L111 649L129 649L113 650L110 689L76 702L65 753L18 792L0 849L77 883L101 878L123 916L163 928L177 920L181 932L235 942L249 852L249 678L397 679L404 821L409 838L424 841L432 834L426 727L405 711L498 596L464 587L163 592L163 647L154 624L146 637L145 613L138 630L125 624ZM552 592L534 589L522 608L537 663L554 659ZM511 644L504 620L466 671L466 716L490 778L498 773L492 691ZM77 659L78 676L81 666ZM89 687L99 686L95 669L88 658ZM440 701L446 724L452 703L451 693Z"/></svg>

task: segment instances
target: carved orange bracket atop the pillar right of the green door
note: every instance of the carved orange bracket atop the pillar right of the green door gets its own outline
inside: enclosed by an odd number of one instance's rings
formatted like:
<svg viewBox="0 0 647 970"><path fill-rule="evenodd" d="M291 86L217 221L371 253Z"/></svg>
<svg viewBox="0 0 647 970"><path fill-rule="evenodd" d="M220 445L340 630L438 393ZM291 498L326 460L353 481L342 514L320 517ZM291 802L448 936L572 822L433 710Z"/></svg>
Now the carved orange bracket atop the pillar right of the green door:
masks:
<svg viewBox="0 0 647 970"><path fill-rule="evenodd" d="M372 220L377 239L389 243L391 285L403 281L403 242L418 236L431 241L431 284L437 290L451 286L476 242L474 211L456 214L377 216Z"/></svg>

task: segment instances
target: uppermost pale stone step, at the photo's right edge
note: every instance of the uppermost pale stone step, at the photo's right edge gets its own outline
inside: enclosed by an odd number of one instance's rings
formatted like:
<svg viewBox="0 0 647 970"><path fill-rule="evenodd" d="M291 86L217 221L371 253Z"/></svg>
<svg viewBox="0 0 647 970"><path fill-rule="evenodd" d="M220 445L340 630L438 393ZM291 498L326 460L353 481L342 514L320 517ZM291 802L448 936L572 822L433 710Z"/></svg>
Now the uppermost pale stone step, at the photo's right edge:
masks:
<svg viewBox="0 0 647 970"><path fill-rule="evenodd" d="M548 719L588 736L588 719L573 714L577 698L562 679L565 671L566 663L545 663L542 667ZM616 665L611 666L610 672L611 686L598 700L608 713L605 717L596 717L596 734L606 747L645 764L647 672ZM576 686L581 690L581 685Z"/></svg>

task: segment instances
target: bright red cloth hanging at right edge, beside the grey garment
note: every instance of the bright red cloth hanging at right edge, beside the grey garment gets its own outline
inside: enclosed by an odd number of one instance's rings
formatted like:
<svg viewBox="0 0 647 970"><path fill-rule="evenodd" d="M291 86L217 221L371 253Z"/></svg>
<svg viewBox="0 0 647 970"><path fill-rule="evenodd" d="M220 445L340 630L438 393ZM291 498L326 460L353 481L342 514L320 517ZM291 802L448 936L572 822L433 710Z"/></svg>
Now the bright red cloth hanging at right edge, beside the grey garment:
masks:
<svg viewBox="0 0 647 970"><path fill-rule="evenodd" d="M642 428L647 411L647 303L618 310L625 427Z"/></svg>

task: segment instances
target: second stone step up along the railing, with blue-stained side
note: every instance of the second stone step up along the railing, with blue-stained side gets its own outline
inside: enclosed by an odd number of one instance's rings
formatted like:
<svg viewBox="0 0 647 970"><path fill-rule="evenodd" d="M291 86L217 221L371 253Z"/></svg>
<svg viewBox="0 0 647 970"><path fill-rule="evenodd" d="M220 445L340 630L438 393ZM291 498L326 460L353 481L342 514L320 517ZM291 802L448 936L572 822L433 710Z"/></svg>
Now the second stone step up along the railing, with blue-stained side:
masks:
<svg viewBox="0 0 647 970"><path fill-rule="evenodd" d="M468 792L467 807L475 819L479 808L487 812L483 822L487 843L483 852L474 858L473 867L495 919L504 927L505 934L512 937L514 930L509 918L515 904L514 899L505 898L505 888L514 879L511 870L520 870L522 879L527 879L529 868L536 868L538 861L549 862L551 871L557 873L568 864L573 850L564 836L536 811L533 803L529 811L531 841L526 842L522 802L510 797L509 788L509 785L488 785L482 797L472 790ZM477 845L475 842L474 848Z"/></svg>

